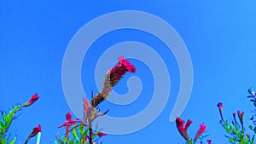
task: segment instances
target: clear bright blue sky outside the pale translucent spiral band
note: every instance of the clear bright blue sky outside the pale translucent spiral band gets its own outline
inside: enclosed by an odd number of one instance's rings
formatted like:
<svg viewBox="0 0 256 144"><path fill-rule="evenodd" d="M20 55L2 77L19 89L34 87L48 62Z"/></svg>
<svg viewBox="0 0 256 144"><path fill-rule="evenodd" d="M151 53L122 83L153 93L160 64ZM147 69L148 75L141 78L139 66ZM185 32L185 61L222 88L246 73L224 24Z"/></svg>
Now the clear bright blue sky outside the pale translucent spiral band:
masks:
<svg viewBox="0 0 256 144"><path fill-rule="evenodd" d="M71 109L61 85L63 56L73 35L90 20L118 10L139 10L166 20L183 38L194 69L194 84L181 118L192 119L189 135L207 124L208 138L228 143L218 124L218 101L224 103L224 117L240 109L249 118L253 106L247 89L256 88L256 3L254 1L94 1L94 2L0 2L0 109L7 111L27 101L35 92L40 99L19 112L10 131L19 141L26 140L32 128L42 125L41 143L53 143L57 129ZM86 39L84 39L86 41ZM114 43L147 43L168 66L172 87L166 107L154 123L129 135L108 135L103 143L183 143L176 125L169 122L180 84L177 61L159 39L134 30L110 32L100 37L85 55L81 78L86 95L97 92L94 82L96 61ZM127 78L141 78L143 90L137 101L115 106L104 101L101 109L110 109L114 117L130 116L143 110L152 97L152 73L148 66L131 60L137 73L128 74L114 88L125 94ZM109 66L110 68L111 66ZM32 140L32 141L35 141ZM31 143L32 143L31 141Z"/></svg>

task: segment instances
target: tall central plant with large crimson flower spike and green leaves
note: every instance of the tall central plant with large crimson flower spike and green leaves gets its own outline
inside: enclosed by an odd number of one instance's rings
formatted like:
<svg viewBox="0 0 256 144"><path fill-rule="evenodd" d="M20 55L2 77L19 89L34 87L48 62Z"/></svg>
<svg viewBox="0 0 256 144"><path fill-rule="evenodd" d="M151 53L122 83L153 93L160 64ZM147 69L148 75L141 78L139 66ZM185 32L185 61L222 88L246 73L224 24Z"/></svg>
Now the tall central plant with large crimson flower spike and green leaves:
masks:
<svg viewBox="0 0 256 144"><path fill-rule="evenodd" d="M66 122L58 127L66 127L66 134L65 136L58 136L55 144L95 144L98 139L107 135L102 133L100 130L92 129L92 122L96 118L104 116L108 112L107 110L106 112L101 113L97 107L102 101L108 98L113 86L123 78L126 72L136 72L135 66L133 66L128 60L125 60L124 57L120 56L118 60L119 63L106 73L102 85L102 91L94 96L90 102L86 97L84 97L84 118L72 120L71 113L67 113ZM72 136L68 135L69 133L71 133Z"/></svg>

